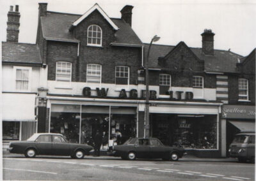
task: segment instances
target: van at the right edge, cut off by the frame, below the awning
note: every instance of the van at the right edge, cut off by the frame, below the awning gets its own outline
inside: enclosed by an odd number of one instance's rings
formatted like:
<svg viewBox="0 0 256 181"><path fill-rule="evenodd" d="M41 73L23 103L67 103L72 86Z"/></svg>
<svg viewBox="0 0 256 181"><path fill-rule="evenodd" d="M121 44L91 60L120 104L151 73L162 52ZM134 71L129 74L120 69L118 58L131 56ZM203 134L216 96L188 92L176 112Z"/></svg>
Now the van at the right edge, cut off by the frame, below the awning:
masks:
<svg viewBox="0 0 256 181"><path fill-rule="evenodd" d="M255 133L236 134L229 147L229 156L235 157L239 162L247 160L255 162Z"/></svg>

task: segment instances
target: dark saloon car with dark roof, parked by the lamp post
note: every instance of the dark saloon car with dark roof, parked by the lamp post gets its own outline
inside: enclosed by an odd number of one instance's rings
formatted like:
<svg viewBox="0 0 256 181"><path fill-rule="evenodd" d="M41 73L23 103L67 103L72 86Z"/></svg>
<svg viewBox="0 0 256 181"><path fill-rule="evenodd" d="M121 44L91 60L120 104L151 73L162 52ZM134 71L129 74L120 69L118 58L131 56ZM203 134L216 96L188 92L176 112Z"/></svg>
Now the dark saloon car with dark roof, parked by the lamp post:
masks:
<svg viewBox="0 0 256 181"><path fill-rule="evenodd" d="M157 138L130 138L123 145L114 146L112 153L122 159L161 158L164 161L178 161L184 154L184 148L164 146Z"/></svg>

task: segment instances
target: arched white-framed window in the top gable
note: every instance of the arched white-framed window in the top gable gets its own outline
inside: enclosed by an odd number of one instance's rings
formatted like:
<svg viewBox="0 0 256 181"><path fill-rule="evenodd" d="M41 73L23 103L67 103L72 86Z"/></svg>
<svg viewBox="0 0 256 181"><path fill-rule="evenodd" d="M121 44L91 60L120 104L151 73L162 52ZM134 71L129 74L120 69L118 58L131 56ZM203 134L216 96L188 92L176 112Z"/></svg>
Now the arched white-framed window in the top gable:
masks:
<svg viewBox="0 0 256 181"><path fill-rule="evenodd" d="M87 45L101 47L102 46L102 29L99 25L90 25L87 32Z"/></svg>

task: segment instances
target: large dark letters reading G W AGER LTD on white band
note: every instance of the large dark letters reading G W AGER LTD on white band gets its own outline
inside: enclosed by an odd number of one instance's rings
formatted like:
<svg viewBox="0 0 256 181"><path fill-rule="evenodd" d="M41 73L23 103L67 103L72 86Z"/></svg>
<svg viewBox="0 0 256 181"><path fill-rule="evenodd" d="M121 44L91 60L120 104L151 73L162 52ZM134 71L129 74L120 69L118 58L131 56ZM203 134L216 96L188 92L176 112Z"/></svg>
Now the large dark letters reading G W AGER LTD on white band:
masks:
<svg viewBox="0 0 256 181"><path fill-rule="evenodd" d="M98 98L107 98L108 97L108 88L99 88L97 87L95 90L91 89L90 87L84 87L83 88L83 96L86 98L91 97L91 91L96 91L97 92L97 97ZM127 96L127 92L130 92L129 96ZM157 92L156 91L149 91L150 99L157 99ZM177 94L177 99L173 98L173 93ZM181 100L182 99L182 94L185 94L185 100L192 100L193 99L193 92L184 92L184 91L169 91L169 98L171 100ZM120 90L120 94L118 98L131 98L131 99L137 99L138 98L138 91L136 89L131 89L130 91L125 91L125 89ZM146 91L141 90L141 98L146 98Z"/></svg>

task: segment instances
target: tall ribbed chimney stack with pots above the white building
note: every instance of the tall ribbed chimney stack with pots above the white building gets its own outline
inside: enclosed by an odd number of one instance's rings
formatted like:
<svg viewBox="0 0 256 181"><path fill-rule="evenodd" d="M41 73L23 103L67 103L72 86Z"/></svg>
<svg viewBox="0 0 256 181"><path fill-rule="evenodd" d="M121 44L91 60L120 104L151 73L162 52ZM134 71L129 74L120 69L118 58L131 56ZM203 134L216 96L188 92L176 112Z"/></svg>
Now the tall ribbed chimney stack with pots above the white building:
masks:
<svg viewBox="0 0 256 181"><path fill-rule="evenodd" d="M20 27L20 12L19 5L15 6L15 11L13 11L13 6L10 6L10 11L7 14L7 35L6 41L18 42L19 41L19 27Z"/></svg>

